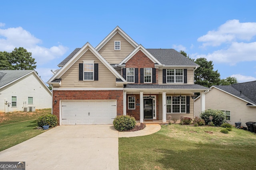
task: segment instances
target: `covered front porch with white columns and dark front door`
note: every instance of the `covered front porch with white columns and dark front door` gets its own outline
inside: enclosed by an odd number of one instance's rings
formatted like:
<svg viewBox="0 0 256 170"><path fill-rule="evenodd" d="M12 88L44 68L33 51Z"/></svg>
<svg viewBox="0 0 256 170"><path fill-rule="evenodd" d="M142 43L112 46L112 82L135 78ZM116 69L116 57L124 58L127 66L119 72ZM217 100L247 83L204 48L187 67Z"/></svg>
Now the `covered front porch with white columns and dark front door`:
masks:
<svg viewBox="0 0 256 170"><path fill-rule="evenodd" d="M140 123L166 123L168 116L194 118L194 93L201 94L201 111L205 109L204 92L199 85L127 85L124 88L124 115ZM202 97L203 96L203 97Z"/></svg>

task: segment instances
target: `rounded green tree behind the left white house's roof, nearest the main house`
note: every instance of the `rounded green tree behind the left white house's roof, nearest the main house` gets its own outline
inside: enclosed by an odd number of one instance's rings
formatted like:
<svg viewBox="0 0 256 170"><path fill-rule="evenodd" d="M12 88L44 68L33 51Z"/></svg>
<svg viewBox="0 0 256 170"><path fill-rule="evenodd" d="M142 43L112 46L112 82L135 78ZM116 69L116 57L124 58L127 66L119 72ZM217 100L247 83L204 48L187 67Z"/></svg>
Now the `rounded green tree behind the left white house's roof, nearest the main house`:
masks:
<svg viewBox="0 0 256 170"><path fill-rule="evenodd" d="M15 48L10 53L10 63L12 70L34 70L36 69L35 59L31 57L32 53L23 47Z"/></svg>

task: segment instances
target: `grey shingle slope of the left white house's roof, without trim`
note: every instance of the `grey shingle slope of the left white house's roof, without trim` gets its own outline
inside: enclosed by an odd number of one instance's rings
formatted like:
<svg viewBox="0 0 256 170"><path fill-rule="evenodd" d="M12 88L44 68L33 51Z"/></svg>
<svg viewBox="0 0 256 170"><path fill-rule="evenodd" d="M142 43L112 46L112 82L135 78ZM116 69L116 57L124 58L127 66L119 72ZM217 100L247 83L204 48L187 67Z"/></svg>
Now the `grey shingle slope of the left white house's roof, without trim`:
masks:
<svg viewBox="0 0 256 170"><path fill-rule="evenodd" d="M0 87L32 72L34 70L0 70Z"/></svg>

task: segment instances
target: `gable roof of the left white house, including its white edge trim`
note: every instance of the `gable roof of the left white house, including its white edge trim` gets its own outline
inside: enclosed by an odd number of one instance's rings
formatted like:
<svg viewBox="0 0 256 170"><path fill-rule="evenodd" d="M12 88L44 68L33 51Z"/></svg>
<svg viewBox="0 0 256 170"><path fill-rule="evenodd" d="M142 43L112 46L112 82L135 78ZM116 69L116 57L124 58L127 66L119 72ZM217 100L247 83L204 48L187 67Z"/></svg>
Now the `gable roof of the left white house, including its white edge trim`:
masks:
<svg viewBox="0 0 256 170"><path fill-rule="evenodd" d="M52 93L34 70L0 70L0 88L8 86L9 84L12 84L13 82L27 76L28 74L34 74L42 86L44 86L44 88L46 88L50 94Z"/></svg>

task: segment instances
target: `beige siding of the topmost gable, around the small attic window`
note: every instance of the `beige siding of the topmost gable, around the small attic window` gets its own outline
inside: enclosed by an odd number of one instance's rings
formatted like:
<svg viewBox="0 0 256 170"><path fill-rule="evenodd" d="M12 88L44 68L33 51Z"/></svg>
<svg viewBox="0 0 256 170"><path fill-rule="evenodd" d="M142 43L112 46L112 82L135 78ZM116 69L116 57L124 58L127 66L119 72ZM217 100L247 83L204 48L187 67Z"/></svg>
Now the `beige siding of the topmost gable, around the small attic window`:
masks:
<svg viewBox="0 0 256 170"><path fill-rule="evenodd" d="M114 50L114 41L120 41L121 50ZM116 33L99 51L100 55L110 64L118 64L135 48L119 33Z"/></svg>

